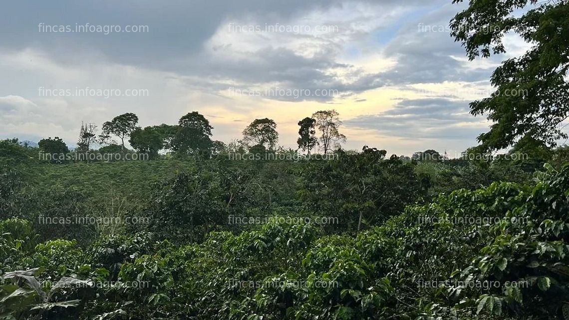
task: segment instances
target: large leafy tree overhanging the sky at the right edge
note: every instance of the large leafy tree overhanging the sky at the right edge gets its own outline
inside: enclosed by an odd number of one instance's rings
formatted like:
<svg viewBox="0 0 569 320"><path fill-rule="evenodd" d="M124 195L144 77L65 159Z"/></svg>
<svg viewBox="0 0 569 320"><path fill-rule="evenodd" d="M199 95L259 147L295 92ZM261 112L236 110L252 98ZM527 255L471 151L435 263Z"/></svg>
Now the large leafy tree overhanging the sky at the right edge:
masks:
<svg viewBox="0 0 569 320"><path fill-rule="evenodd" d="M567 138L562 124L569 117L568 16L567 1L470 1L451 20L451 34L470 60L506 52L502 38L509 31L531 44L525 54L496 68L492 96L470 104L473 115L486 114L494 122L478 137L481 152L511 146L525 136L551 146Z"/></svg>

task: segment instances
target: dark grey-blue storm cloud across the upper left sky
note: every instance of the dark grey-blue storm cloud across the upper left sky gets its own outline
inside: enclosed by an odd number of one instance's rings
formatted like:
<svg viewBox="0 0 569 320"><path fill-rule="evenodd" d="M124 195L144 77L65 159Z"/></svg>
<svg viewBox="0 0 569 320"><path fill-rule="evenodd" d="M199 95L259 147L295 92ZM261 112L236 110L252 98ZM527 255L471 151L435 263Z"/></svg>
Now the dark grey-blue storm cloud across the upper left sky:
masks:
<svg viewBox="0 0 569 320"><path fill-rule="evenodd" d="M360 2L374 3L372 0ZM387 8L397 3L388 0L382 5ZM2 8L5 14L0 19L0 48L22 50L36 47L67 63L75 58L81 59L80 53L92 51L113 62L173 70L176 67L173 61L199 52L220 23L228 19L253 14L267 17L267 23L274 23L302 16L311 10L342 6L341 0L10 1ZM38 32L39 23L145 25L149 26L149 32L110 35Z"/></svg>

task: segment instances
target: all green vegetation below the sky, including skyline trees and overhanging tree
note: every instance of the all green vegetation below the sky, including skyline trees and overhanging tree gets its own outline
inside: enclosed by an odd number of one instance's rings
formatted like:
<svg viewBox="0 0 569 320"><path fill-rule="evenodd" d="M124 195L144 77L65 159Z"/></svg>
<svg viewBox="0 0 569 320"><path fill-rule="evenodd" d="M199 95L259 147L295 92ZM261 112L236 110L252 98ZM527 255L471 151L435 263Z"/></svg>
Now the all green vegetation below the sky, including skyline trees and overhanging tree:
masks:
<svg viewBox="0 0 569 320"><path fill-rule="evenodd" d="M82 123L74 150L0 141L0 319L569 319L568 8L452 20L470 59L533 45L472 102L494 123L459 159L343 150L336 110L297 150L270 118L214 141L198 112Z"/></svg>

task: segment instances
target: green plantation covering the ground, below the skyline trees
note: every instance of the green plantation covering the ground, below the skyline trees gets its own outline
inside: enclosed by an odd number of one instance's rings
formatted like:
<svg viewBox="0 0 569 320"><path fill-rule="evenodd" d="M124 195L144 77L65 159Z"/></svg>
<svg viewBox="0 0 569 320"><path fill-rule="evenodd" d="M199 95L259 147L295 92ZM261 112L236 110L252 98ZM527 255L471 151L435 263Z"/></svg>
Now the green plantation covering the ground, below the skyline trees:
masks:
<svg viewBox="0 0 569 320"><path fill-rule="evenodd" d="M405 159L364 147L325 161L222 152L68 164L38 161L38 149L17 141L0 148L5 319L569 311L563 148L523 161Z"/></svg>

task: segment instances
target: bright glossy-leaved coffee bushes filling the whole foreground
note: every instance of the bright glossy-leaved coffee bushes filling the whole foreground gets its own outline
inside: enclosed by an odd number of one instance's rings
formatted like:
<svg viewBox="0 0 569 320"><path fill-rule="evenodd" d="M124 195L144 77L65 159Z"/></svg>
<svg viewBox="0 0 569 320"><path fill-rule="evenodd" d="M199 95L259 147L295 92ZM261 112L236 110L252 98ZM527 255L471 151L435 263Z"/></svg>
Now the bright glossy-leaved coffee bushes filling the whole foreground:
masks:
<svg viewBox="0 0 569 320"><path fill-rule="evenodd" d="M344 161L400 161L384 156L366 148ZM15 257L48 270L44 279L63 276L51 286L57 293L44 292L46 302L33 289L38 280L11 273L23 280L3 284L3 297L22 290L6 299L4 311L24 318L43 310L46 319L563 318L569 167L547 166L536 178L532 188L493 183L443 194L357 236L272 222L181 246L145 232L101 237L87 249L48 241L31 260ZM176 183L184 190L196 182ZM2 225L19 225L3 227L18 237L33 233L23 221ZM103 285L109 280L116 283ZM100 285L64 286L87 283Z"/></svg>

